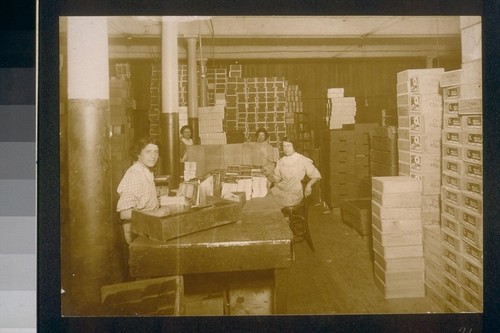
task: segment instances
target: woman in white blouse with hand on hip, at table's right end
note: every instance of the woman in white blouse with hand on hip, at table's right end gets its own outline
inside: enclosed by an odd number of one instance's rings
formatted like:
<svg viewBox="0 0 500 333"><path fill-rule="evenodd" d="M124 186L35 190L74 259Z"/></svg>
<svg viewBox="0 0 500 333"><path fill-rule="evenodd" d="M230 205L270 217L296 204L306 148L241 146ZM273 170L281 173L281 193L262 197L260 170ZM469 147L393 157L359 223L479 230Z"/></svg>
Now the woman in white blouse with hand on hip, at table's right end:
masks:
<svg viewBox="0 0 500 333"><path fill-rule="evenodd" d="M271 193L283 207L295 206L302 201L304 195L311 195L312 186L321 179L321 174L311 159L295 151L292 139L283 138L283 151L285 156L278 160L274 173L268 176L275 184ZM302 180L306 175L309 181L303 190Z"/></svg>

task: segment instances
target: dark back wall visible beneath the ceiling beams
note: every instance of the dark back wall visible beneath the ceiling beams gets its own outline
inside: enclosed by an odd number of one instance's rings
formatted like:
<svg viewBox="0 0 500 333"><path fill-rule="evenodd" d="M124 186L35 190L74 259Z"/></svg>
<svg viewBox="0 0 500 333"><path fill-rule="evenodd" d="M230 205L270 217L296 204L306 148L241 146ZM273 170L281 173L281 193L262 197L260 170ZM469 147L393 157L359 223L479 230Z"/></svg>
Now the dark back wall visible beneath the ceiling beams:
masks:
<svg viewBox="0 0 500 333"><path fill-rule="evenodd" d="M111 62L110 72L116 62ZM149 78L151 60L124 60L131 64L133 96L137 100L139 118L147 122ZM209 67L227 68L235 61L208 61ZM290 84L298 84L302 91L304 112L310 117L315 133L326 128L327 89L344 88L344 96L355 97L357 122L380 122L382 109L396 116L396 74L406 69L425 68L425 58L349 58L349 59L294 59L294 60L241 60L243 77L283 76ZM434 67L446 71L460 68L460 56L439 58ZM366 103L365 103L366 102ZM141 121L136 119L138 132ZM315 144L319 138L315 135Z"/></svg>

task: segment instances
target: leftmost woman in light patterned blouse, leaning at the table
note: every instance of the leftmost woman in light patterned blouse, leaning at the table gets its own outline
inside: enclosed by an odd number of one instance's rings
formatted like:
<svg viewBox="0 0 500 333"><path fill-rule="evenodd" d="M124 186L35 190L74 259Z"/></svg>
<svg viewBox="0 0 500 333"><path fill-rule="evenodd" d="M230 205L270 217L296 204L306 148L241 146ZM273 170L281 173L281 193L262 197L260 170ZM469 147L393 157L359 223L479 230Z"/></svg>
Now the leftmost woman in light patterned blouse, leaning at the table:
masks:
<svg viewBox="0 0 500 333"><path fill-rule="evenodd" d="M159 149L156 142L149 137L141 138L130 148L130 154L135 162L125 172L116 190L120 195L116 211L120 213L127 244L132 242L130 222L132 210L150 210L152 214L159 217L170 213L167 207L160 207L154 175L150 170L158 161Z"/></svg>

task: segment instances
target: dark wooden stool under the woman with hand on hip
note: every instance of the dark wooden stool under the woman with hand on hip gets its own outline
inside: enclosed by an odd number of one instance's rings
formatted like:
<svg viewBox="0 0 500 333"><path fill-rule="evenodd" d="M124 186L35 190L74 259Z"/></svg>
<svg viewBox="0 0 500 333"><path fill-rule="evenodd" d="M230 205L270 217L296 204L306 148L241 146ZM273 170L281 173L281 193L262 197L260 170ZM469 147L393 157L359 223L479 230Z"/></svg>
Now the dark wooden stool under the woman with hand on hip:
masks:
<svg viewBox="0 0 500 333"><path fill-rule="evenodd" d="M309 232L309 197L304 197L298 205L283 207L281 212L289 218L288 223L293 232L294 241L298 243L305 239L311 250L316 252Z"/></svg>

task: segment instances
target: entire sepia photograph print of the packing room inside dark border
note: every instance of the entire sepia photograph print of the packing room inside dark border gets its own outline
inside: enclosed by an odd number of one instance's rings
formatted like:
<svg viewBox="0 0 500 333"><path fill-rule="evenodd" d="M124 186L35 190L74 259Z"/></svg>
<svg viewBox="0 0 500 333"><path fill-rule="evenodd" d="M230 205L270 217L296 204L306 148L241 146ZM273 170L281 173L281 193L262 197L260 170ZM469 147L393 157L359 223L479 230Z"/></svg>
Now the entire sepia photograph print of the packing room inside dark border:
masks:
<svg viewBox="0 0 500 333"><path fill-rule="evenodd" d="M483 312L481 16L60 16L61 316Z"/></svg>

